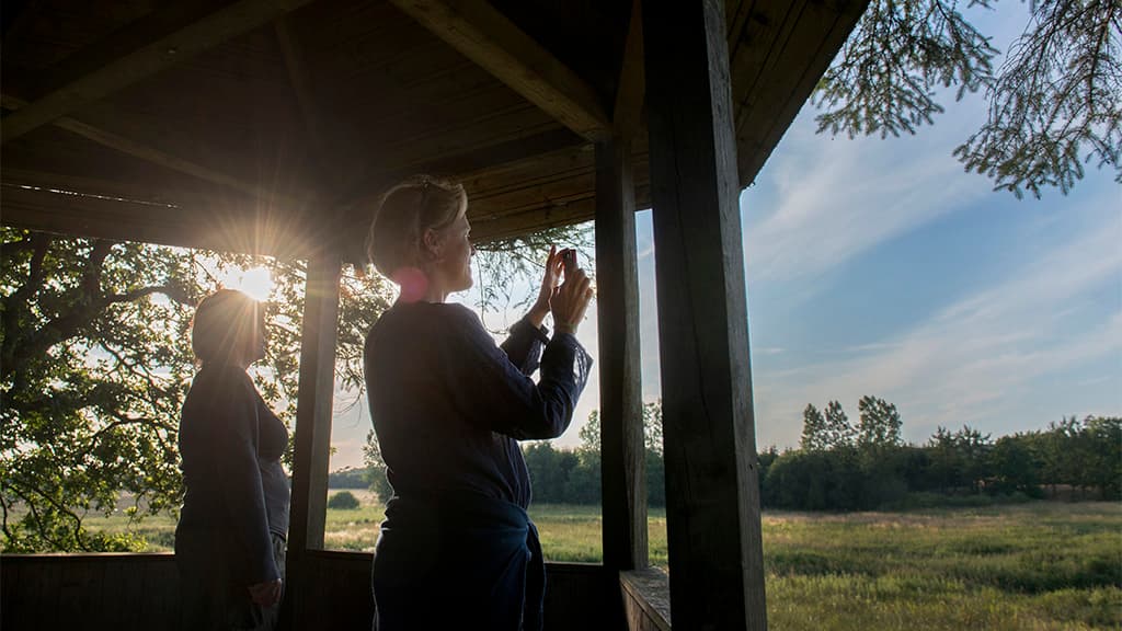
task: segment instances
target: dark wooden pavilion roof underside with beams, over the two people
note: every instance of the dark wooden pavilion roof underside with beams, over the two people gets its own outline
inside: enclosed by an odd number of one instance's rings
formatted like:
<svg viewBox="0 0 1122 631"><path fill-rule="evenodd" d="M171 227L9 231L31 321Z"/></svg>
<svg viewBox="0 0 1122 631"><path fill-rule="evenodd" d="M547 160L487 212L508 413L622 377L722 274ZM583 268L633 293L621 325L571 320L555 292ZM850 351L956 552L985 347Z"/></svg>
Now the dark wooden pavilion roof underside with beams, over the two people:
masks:
<svg viewBox="0 0 1122 631"><path fill-rule="evenodd" d="M865 3L727 2L742 185ZM6 1L0 221L301 255L352 248L370 201L414 172L463 181L479 239L591 219L595 140L642 125L625 111L642 103L636 8Z"/></svg>

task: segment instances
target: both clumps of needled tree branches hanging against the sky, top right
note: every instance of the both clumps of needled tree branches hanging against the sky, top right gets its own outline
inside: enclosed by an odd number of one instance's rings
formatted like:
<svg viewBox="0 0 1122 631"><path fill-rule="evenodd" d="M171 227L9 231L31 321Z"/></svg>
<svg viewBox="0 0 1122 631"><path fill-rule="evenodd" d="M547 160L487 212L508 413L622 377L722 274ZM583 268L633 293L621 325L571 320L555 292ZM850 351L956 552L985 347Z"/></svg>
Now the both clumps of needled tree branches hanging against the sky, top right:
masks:
<svg viewBox="0 0 1122 631"><path fill-rule="evenodd" d="M1037 0L1030 10L995 73L999 51L954 0L873 0L812 97L819 131L914 134L944 111L937 88L956 88L956 100L984 90L987 119L955 149L967 171L1018 198L1066 194L1092 162L1122 183L1122 4Z"/></svg>

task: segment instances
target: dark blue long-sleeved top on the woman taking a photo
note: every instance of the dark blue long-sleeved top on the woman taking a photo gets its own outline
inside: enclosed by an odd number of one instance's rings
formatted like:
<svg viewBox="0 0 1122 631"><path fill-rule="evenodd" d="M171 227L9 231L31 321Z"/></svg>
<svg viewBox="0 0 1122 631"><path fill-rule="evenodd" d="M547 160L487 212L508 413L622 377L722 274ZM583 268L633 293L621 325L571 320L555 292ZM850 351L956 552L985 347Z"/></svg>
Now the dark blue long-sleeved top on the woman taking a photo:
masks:
<svg viewBox="0 0 1122 631"><path fill-rule="evenodd" d="M592 360L572 335L550 339L526 320L498 347L463 305L398 302L370 329L365 364L397 495L469 492L525 509L530 474L517 441L564 432Z"/></svg>

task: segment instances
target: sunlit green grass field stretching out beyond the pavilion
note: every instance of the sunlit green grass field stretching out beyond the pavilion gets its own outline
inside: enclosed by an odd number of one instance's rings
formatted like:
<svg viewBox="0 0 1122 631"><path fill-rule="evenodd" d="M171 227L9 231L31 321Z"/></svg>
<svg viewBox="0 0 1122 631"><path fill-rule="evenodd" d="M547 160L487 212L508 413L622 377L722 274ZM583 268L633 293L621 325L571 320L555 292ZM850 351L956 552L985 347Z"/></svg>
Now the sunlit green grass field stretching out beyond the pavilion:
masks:
<svg viewBox="0 0 1122 631"><path fill-rule="evenodd" d="M373 550L381 506L328 511L327 545ZM597 506L531 513L545 556L600 559ZM125 518L98 519L120 531ZM169 549L168 518L136 533ZM763 519L767 615L776 631L1122 630L1122 504L1034 502L905 513L776 513ZM666 520L652 511L651 561L666 567Z"/></svg>

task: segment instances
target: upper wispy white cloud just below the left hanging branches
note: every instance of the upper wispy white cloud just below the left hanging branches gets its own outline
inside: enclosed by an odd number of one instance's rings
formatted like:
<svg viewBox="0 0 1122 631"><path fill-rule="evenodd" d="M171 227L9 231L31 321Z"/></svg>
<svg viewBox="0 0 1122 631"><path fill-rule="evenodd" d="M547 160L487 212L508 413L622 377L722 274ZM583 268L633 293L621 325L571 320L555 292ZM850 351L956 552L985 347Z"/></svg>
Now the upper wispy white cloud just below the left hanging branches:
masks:
<svg viewBox="0 0 1122 631"><path fill-rule="evenodd" d="M984 179L962 176L945 136L930 130L894 141L797 136L792 145L765 174L774 208L755 208L766 202L751 189L745 195L752 282L819 275L991 194Z"/></svg>

